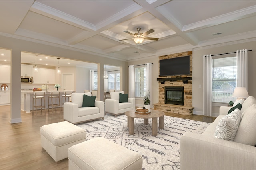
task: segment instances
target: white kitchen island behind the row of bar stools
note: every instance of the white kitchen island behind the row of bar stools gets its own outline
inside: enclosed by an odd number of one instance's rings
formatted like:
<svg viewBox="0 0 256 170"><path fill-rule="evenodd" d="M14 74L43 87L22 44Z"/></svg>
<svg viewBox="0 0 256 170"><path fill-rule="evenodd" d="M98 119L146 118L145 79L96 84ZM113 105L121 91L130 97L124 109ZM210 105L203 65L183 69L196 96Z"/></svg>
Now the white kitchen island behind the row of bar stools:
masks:
<svg viewBox="0 0 256 170"><path fill-rule="evenodd" d="M52 90L56 91L56 90ZM64 95L65 91L60 92L60 102L62 102L61 96ZM48 96L50 96L51 91L45 92L45 108L48 109ZM30 113L33 109L33 96L34 92L32 90L21 90L21 110ZM57 101L58 104L58 101Z"/></svg>

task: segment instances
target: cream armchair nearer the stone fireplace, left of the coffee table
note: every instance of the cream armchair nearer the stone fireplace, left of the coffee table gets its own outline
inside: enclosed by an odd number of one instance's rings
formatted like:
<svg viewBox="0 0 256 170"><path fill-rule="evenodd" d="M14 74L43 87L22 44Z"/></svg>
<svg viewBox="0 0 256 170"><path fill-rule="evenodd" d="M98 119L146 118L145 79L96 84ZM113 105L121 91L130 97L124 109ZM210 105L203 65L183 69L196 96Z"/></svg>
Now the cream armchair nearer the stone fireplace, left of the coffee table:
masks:
<svg viewBox="0 0 256 170"><path fill-rule="evenodd" d="M135 110L135 98L128 98L128 102L119 103L119 93L121 92L110 92L111 99L105 100L105 111L112 115L120 115L126 111Z"/></svg>

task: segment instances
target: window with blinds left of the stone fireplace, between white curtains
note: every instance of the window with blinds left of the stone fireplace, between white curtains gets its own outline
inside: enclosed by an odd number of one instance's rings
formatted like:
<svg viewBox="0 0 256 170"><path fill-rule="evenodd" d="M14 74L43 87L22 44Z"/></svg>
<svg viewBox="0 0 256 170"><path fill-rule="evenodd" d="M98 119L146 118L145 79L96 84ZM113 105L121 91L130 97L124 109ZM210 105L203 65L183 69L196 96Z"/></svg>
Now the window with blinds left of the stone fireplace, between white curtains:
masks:
<svg viewBox="0 0 256 170"><path fill-rule="evenodd" d="M135 67L135 97L144 98L146 91L146 67Z"/></svg>

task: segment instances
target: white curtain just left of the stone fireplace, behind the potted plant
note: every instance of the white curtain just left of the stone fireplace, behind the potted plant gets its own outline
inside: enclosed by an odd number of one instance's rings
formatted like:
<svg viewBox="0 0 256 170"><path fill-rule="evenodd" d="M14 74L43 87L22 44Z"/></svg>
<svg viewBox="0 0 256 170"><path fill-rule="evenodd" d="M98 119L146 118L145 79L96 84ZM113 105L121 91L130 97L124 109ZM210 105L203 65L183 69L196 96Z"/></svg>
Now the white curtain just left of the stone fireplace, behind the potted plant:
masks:
<svg viewBox="0 0 256 170"><path fill-rule="evenodd" d="M146 94L150 94L150 108L152 108L152 63L146 63Z"/></svg>

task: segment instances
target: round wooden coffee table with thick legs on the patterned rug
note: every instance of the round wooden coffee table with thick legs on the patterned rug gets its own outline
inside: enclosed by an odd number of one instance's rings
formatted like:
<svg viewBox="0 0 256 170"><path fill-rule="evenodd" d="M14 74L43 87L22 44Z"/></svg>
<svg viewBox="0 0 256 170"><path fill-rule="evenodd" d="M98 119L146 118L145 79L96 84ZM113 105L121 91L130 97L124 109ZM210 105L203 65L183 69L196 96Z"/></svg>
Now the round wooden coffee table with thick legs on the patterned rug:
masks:
<svg viewBox="0 0 256 170"><path fill-rule="evenodd" d="M159 128L164 129L164 112L159 110L151 110L148 115L135 113L135 110L126 111L124 114L127 116L127 126L129 127L129 135L134 134L134 118L144 119L144 124L148 125L148 119L152 118L152 136L157 135L157 118L159 117Z"/></svg>

